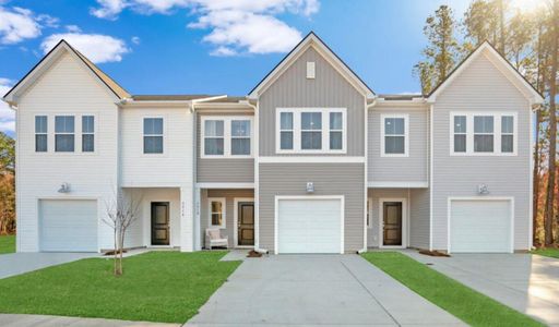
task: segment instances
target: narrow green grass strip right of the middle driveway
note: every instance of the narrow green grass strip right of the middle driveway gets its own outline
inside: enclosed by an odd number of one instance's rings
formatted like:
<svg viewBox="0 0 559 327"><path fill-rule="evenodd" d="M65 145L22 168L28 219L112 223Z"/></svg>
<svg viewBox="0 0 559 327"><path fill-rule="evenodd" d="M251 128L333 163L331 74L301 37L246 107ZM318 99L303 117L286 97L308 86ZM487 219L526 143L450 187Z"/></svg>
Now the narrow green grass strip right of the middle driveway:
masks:
<svg viewBox="0 0 559 327"><path fill-rule="evenodd" d="M468 325L543 326L402 253L368 252L362 257Z"/></svg>

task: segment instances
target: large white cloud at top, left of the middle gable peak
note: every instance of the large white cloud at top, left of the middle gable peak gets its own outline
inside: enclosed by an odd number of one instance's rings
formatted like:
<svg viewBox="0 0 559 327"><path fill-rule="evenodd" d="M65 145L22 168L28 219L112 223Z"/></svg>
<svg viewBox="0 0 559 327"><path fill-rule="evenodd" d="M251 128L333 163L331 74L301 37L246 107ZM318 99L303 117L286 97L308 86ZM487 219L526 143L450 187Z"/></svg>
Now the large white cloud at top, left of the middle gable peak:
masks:
<svg viewBox="0 0 559 327"><path fill-rule="evenodd" d="M203 40L215 48L213 56L285 52L300 39L296 28L277 19L280 14L310 16L319 0L97 0L97 17L116 19L130 9L142 14L168 14L188 9L195 16L189 28L210 29Z"/></svg>

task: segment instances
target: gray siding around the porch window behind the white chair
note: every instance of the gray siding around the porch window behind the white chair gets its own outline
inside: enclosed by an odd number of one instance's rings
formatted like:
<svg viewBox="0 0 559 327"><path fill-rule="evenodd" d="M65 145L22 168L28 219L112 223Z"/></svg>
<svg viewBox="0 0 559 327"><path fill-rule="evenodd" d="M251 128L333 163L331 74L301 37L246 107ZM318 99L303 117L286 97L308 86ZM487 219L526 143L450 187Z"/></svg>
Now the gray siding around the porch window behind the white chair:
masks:
<svg viewBox="0 0 559 327"><path fill-rule="evenodd" d="M234 247L235 197L254 197L254 190L204 190L202 192L200 201L200 232L202 235L202 246L204 246L205 229L210 225L209 197L225 197L225 230L222 231L222 235L227 235L229 238L229 247Z"/></svg>

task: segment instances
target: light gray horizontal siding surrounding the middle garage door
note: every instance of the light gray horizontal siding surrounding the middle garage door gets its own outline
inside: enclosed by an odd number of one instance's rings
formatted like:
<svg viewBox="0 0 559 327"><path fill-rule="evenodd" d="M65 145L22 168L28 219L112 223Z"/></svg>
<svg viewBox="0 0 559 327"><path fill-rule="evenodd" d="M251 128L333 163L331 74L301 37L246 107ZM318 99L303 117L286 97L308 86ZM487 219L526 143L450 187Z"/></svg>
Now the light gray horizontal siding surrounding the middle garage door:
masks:
<svg viewBox="0 0 559 327"><path fill-rule="evenodd" d="M362 164L260 164L260 247L274 250L276 195L345 196L345 252L364 247L365 167Z"/></svg>

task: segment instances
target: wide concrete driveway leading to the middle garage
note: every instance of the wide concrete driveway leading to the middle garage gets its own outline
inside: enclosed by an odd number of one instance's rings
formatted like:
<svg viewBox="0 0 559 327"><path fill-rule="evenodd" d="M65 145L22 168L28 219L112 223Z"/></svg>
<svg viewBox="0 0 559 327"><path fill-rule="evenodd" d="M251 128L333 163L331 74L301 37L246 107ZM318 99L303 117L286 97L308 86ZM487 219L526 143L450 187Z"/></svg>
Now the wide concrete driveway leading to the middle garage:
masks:
<svg viewBox="0 0 559 327"><path fill-rule="evenodd" d="M187 326L425 325L461 320L358 255L245 259Z"/></svg>

